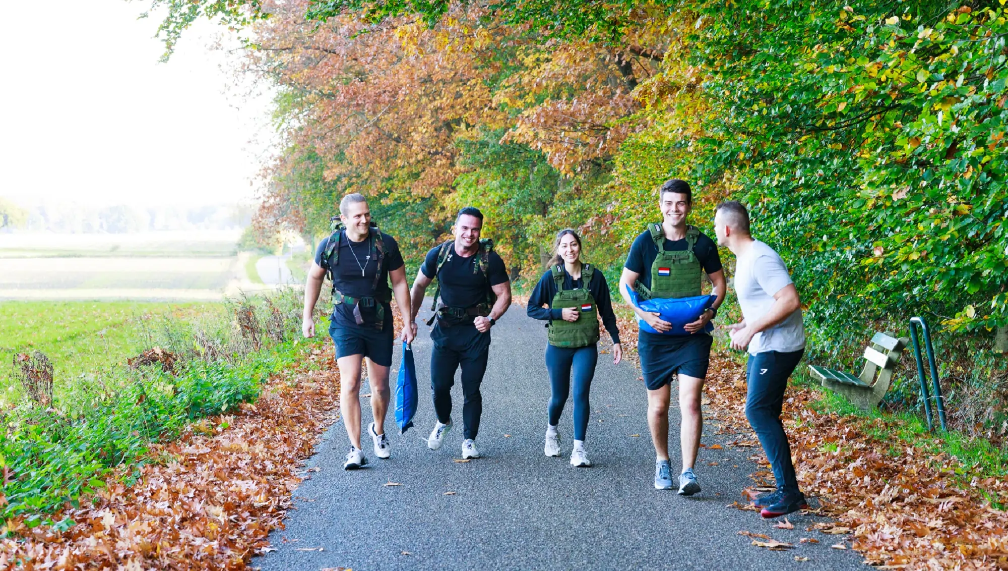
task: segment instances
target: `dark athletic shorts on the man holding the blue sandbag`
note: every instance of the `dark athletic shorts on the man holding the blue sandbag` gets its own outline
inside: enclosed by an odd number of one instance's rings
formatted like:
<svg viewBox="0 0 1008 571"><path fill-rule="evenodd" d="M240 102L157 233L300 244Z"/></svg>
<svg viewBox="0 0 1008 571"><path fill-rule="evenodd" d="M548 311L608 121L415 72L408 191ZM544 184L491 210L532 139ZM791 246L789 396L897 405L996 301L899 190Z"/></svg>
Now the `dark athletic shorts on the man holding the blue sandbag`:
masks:
<svg viewBox="0 0 1008 571"><path fill-rule="evenodd" d="M707 333L679 336L638 332L637 354L648 390L657 390L670 383L676 372L706 377L712 343L714 337Z"/></svg>

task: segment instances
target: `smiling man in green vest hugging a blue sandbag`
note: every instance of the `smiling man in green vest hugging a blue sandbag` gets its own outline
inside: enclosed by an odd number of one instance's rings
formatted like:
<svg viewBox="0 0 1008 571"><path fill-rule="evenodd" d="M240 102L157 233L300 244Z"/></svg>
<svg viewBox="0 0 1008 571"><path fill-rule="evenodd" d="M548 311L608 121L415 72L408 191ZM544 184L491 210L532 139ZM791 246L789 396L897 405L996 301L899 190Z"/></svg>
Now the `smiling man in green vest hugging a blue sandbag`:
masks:
<svg viewBox="0 0 1008 571"><path fill-rule="evenodd" d="M679 380L679 445L682 452L682 472L679 475L680 495L699 492L700 484L692 468L700 448L704 427L701 414L701 393L711 358L714 339L707 333L708 324L725 301L725 272L714 240L692 226L686 225L686 215L692 206L692 191L684 181L672 179L658 191L658 206L662 214L660 225L650 225L630 246L630 254L620 276L620 294L634 309L638 319L655 331L667 332L672 324L661 320L657 313L641 311L630 302L627 288L644 290L654 298L683 298L701 295L702 271L714 284L718 298L713 308L684 326L685 336L662 335L638 331L637 354L647 386L647 424L657 457L654 487L672 487L671 463L668 459L668 403L672 376ZM661 244L661 252L658 244ZM691 252L691 253L687 253ZM639 282L639 283L638 283Z"/></svg>

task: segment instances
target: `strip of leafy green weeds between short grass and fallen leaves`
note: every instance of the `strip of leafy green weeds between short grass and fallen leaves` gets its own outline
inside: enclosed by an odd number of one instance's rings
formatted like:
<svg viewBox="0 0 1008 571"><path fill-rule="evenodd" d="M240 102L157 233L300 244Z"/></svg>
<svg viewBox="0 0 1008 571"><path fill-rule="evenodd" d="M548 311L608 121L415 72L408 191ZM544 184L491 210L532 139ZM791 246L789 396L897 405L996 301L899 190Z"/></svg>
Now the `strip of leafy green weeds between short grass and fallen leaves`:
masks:
<svg viewBox="0 0 1008 571"><path fill-rule="evenodd" d="M177 377L152 367L73 417L27 404L5 412L0 465L14 477L3 485L0 517L29 513L25 523L34 527L44 513L95 493L115 466L137 464L136 477L151 443L254 401L270 374L292 368L314 346L288 341L237 364L195 361Z"/></svg>

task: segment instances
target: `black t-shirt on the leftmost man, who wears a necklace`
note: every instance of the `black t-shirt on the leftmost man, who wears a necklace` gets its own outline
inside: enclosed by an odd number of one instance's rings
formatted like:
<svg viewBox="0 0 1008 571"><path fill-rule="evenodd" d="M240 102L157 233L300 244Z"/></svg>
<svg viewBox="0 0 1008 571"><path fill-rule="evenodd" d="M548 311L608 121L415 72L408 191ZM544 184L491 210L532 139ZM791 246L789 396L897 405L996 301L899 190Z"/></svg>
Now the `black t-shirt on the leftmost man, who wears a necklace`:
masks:
<svg viewBox="0 0 1008 571"><path fill-rule="evenodd" d="M336 267L332 269L333 282L341 294L351 298L380 294L384 297L391 297L391 289L388 287L388 272L402 267L402 254L399 253L399 244L396 243L395 238L382 232L381 239L385 247L385 262L381 269L381 278L378 279L377 291L375 291L372 290L372 287L375 281L375 272L378 271L378 256L372 238L369 236L362 242L353 242L347 237L346 230L340 232L340 259L336 262ZM326 238L316 250L316 263L326 270L330 269L329 259L323 259L323 255L328 244L329 238ZM333 255L335 257L336 253L334 252ZM361 317L364 318L365 323L374 323L375 310L361 308ZM336 306L333 309L333 323L334 325L356 327L354 307L347 304Z"/></svg>

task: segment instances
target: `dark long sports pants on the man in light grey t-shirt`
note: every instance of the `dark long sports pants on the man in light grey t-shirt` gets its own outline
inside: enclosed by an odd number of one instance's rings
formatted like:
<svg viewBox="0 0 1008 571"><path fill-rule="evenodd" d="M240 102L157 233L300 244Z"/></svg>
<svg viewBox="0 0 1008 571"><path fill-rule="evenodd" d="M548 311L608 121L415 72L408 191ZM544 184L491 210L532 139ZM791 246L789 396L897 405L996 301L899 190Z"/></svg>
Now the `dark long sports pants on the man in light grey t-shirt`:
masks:
<svg viewBox="0 0 1008 571"><path fill-rule="evenodd" d="M805 350L781 353L766 351L749 355L747 368L749 393L746 395L746 418L753 427L763 452L773 468L777 489L786 493L797 493L798 479L791 463L791 447L780 422L780 410L784 405L784 389L787 377L801 360Z"/></svg>

